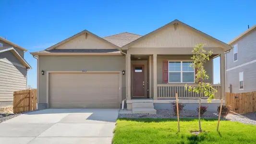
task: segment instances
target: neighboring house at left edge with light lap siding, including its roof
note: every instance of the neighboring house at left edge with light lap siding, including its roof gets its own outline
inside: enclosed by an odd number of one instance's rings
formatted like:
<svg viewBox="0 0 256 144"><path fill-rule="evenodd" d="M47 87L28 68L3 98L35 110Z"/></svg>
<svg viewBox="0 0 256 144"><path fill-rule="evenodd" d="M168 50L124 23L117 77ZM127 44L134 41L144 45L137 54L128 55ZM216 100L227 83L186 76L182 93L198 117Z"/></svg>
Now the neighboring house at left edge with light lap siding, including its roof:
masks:
<svg viewBox="0 0 256 144"><path fill-rule="evenodd" d="M27 70L24 60L26 49L0 37L0 108L12 106L13 92L26 89Z"/></svg>

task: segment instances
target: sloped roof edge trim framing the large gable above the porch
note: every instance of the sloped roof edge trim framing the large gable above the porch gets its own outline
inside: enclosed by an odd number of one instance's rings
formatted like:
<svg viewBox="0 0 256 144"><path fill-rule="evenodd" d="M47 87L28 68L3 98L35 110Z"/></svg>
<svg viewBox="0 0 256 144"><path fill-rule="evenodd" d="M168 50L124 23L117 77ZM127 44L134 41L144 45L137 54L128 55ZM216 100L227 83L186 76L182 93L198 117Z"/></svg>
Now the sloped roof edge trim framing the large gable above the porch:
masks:
<svg viewBox="0 0 256 144"><path fill-rule="evenodd" d="M214 38L214 37L212 37L212 36L209 36L209 35L207 35L207 34L201 32L201 31L195 29L195 28L192 27L192 26L189 26L189 25L187 25L187 24L184 24L183 22L181 22L181 21L179 21L179 20L174 20L174 21L172 21L171 23L166 24L166 25L164 25L164 26L162 26L162 27L160 27L160 28L158 28L158 29L156 29L156 30L154 30L154 31L152 31L152 32L150 32L150 33L148 33L148 34L146 34L145 36L142 36L142 37L140 37L140 38L134 40L133 42L130 42L130 43L126 44L126 45L123 46L122 48L128 48L129 46L132 46L134 43L136 43L136 42L138 42L138 41L140 41L140 40L142 40L142 39L145 39L145 38L148 37L148 36L151 36L151 35L157 33L157 32L160 31L161 29L163 29L163 28L165 28L165 27L168 27L168 26L171 25L171 24L181 24L181 25L183 25L184 27L187 27L187 28L191 29L191 30L194 31L195 33L200 34L200 35L202 35L202 36L205 36L205 37L207 37L208 39L210 39L210 40L212 40L212 41L218 43L219 45L223 46L223 48L225 48L225 50L229 50L229 49L232 48L230 45L228 45L228 44L226 44L226 43L224 43L224 42L222 42L222 41L220 41L220 40L218 40L218 39L216 39L216 38Z"/></svg>

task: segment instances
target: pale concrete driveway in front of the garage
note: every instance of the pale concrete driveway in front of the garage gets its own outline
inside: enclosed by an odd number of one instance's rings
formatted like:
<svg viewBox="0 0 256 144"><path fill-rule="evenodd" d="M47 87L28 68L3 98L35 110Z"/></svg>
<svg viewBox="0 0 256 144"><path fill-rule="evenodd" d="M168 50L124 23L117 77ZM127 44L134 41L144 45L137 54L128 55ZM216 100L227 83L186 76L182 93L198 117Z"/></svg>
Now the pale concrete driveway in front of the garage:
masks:
<svg viewBox="0 0 256 144"><path fill-rule="evenodd" d="M56 108L0 123L1 144L111 144L119 109Z"/></svg>

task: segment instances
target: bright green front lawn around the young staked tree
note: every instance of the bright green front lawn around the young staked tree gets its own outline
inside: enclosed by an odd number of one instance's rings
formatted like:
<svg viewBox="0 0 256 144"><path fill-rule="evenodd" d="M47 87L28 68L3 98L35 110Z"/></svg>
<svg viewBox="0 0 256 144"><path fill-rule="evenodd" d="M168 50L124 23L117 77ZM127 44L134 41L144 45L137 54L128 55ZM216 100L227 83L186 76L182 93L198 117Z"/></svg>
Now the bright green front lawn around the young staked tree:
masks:
<svg viewBox="0 0 256 144"><path fill-rule="evenodd" d="M113 144L256 144L256 126L239 122L220 121L219 132L216 119L181 119L178 132L175 119L119 119L114 130Z"/></svg>

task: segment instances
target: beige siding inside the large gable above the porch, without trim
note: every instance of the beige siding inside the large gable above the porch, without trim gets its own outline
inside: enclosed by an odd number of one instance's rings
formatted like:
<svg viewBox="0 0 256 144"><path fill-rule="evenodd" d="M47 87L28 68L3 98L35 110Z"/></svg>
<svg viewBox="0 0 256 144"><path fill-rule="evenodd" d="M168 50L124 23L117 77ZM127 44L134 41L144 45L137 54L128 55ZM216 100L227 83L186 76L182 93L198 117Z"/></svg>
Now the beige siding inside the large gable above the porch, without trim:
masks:
<svg viewBox="0 0 256 144"><path fill-rule="evenodd" d="M194 48L196 44L204 43L205 47L221 47L219 44L196 34L194 31L178 25L174 29L170 25L157 33L135 43L132 48Z"/></svg>

